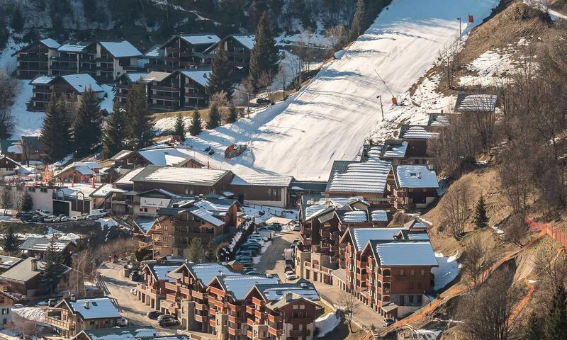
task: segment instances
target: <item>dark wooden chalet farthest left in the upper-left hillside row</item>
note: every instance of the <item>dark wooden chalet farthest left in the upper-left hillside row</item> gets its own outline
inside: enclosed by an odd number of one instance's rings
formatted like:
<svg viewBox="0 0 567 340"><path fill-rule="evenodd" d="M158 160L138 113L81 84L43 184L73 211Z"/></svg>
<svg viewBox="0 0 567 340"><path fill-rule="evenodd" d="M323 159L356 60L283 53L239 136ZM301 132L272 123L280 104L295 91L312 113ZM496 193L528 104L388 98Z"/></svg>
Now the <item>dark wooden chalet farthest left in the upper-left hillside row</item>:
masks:
<svg viewBox="0 0 567 340"><path fill-rule="evenodd" d="M43 39L22 47L16 55L16 74L21 79L32 79L40 74L50 74L50 58L57 55L60 43L53 39Z"/></svg>

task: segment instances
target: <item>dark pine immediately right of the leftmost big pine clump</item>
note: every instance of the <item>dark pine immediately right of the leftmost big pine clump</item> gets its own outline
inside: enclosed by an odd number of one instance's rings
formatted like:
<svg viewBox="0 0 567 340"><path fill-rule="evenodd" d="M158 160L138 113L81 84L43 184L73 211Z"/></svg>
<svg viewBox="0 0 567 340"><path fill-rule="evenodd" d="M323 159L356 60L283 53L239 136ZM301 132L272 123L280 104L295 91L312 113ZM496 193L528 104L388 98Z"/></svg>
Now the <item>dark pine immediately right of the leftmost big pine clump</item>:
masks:
<svg viewBox="0 0 567 340"><path fill-rule="evenodd" d="M84 157L101 144L103 117L99 99L92 89L86 89L73 122L75 154Z"/></svg>

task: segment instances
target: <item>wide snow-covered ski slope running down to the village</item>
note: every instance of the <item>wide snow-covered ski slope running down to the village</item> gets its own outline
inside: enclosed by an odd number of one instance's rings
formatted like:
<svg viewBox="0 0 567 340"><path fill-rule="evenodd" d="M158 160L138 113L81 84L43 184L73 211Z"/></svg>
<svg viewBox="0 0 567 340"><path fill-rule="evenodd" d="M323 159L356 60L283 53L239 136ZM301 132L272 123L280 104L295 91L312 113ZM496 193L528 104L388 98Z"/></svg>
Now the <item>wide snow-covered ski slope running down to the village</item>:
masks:
<svg viewBox="0 0 567 340"><path fill-rule="evenodd" d="M333 160L354 159L377 128L395 128L381 122L376 96L383 96L386 120L423 120L424 112L413 117L403 106L392 107L390 91L400 100L405 97L403 104L410 106L410 86L434 64L439 50L459 35L456 18L463 19L466 32L497 4L498 0L393 0L341 59L323 67L288 101L250 120L203 132L187 144L197 151L212 146L215 165L237 174L326 180ZM472 25L468 14L474 16ZM249 143L249 151L225 161L224 149L232 143Z"/></svg>

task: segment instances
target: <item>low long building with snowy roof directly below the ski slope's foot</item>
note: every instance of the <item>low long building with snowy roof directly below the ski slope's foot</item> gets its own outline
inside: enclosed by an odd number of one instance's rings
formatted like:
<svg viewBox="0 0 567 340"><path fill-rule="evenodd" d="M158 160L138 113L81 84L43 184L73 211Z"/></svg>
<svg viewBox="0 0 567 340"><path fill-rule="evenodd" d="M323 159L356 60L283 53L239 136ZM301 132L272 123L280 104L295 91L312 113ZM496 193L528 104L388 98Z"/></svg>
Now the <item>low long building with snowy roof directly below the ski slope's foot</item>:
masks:
<svg viewBox="0 0 567 340"><path fill-rule="evenodd" d="M241 203L285 208L289 205L288 188L292 180L291 176L235 175L229 190Z"/></svg>

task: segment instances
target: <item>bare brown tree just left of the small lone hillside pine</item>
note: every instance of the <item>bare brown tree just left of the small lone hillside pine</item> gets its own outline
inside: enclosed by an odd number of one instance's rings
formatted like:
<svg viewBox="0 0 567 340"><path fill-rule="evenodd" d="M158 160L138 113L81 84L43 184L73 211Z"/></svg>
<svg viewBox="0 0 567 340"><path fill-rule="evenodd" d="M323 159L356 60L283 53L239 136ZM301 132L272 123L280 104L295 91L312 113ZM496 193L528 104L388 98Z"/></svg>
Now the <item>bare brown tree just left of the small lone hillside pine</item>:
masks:
<svg viewBox="0 0 567 340"><path fill-rule="evenodd" d="M455 239L460 239L465 232L466 222L470 217L469 202L471 202L471 192L468 181L454 183L442 200L443 225Z"/></svg>

